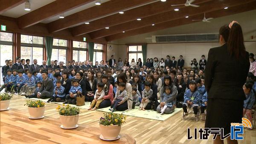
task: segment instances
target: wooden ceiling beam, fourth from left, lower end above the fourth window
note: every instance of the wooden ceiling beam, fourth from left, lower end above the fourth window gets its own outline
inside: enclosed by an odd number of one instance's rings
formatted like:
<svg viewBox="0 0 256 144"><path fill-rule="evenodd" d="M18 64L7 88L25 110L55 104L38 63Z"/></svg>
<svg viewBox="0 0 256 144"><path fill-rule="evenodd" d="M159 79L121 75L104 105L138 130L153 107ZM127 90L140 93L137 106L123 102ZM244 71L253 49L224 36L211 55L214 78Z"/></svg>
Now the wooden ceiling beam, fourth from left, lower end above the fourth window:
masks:
<svg viewBox="0 0 256 144"><path fill-rule="evenodd" d="M201 4L211 0L196 0L194 4ZM185 0L184 0L185 2ZM126 23L132 20L136 20L138 17L148 17L154 14L159 14L163 12L172 11L175 8L183 8L182 6L173 7L172 4L181 3L181 0L167 0L166 2L161 2L160 0L156 3L151 3L145 6L141 6L135 9L125 11L125 14L113 14L108 17L103 17L98 20L90 22L89 25L80 25L73 27L71 32L73 36L78 36L93 32L105 27L115 26L121 23Z"/></svg>

